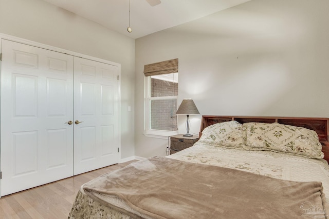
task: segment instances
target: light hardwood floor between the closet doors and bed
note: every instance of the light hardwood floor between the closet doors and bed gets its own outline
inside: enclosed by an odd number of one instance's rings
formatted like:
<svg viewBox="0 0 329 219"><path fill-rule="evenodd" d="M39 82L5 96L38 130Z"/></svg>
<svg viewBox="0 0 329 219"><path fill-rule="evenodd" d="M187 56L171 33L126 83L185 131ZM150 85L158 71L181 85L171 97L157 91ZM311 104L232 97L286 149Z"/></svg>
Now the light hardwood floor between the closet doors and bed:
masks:
<svg viewBox="0 0 329 219"><path fill-rule="evenodd" d="M82 173L57 182L0 198L0 218L67 218L80 187L104 173L122 168L133 161Z"/></svg>

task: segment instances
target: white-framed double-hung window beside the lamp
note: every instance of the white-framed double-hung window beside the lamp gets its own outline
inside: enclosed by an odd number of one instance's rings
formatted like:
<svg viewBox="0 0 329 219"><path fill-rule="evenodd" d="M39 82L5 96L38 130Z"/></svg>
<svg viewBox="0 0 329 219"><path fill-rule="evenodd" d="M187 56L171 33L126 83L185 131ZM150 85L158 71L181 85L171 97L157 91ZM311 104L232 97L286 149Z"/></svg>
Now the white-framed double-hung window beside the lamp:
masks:
<svg viewBox="0 0 329 219"><path fill-rule="evenodd" d="M172 59L169 62L176 61ZM168 61L161 62L167 63ZM152 65L153 72L156 68ZM177 59L178 68L178 59ZM168 66L167 66L168 67ZM172 71L156 71L145 73L145 135L167 138L177 133L177 95L178 95L178 69ZM168 69L168 68L167 68ZM173 70L174 71L174 70Z"/></svg>

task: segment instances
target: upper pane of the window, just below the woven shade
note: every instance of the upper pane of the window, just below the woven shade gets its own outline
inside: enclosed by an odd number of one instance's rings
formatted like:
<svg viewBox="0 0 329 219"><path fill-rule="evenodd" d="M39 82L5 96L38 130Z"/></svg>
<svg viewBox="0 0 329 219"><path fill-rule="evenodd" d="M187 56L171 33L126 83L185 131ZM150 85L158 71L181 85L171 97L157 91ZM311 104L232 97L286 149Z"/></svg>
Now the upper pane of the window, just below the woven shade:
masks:
<svg viewBox="0 0 329 219"><path fill-rule="evenodd" d="M151 97L177 95L178 73L151 76Z"/></svg>

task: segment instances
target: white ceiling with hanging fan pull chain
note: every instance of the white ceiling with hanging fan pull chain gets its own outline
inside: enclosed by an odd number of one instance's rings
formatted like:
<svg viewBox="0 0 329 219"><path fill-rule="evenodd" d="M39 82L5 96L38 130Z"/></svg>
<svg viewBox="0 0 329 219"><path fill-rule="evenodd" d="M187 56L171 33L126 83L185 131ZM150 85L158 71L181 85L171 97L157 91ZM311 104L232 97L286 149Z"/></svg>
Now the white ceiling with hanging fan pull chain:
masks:
<svg viewBox="0 0 329 219"><path fill-rule="evenodd" d="M43 0L131 38L193 21L250 0ZM159 3L151 6L149 3Z"/></svg>

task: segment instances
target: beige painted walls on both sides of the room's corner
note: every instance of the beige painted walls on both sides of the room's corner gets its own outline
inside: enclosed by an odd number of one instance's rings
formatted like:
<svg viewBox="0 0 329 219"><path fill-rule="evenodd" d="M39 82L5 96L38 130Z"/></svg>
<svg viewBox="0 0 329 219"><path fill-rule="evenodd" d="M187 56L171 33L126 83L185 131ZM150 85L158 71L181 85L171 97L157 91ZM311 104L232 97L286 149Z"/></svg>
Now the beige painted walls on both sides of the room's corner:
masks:
<svg viewBox="0 0 329 219"><path fill-rule="evenodd" d="M327 11L327 0L252 0L135 42L40 0L0 0L0 33L120 63L121 155L149 157L168 144L142 134L153 62L179 58L178 103L193 98L203 115L329 117Z"/></svg>

